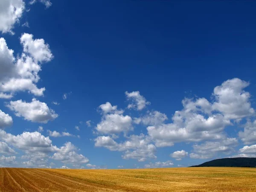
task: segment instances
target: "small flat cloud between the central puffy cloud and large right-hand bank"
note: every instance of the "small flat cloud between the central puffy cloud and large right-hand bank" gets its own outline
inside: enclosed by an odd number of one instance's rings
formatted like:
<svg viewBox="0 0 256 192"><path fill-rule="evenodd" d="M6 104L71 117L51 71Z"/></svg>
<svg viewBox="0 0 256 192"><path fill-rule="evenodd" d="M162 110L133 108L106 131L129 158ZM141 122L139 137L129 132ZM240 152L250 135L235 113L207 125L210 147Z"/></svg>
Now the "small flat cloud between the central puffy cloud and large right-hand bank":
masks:
<svg viewBox="0 0 256 192"><path fill-rule="evenodd" d="M159 111L152 111L145 116L135 118L134 122L136 124L142 123L143 125L161 125L167 119L166 114L160 113Z"/></svg>

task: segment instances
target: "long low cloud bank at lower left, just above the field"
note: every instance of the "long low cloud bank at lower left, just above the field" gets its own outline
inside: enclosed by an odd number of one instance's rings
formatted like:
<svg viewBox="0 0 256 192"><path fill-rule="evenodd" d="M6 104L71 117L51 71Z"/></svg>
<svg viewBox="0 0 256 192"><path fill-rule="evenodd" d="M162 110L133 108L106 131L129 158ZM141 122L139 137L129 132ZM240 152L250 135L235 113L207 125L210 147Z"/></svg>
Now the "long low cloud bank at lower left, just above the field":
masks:
<svg viewBox="0 0 256 192"><path fill-rule="evenodd" d="M49 137L44 137L37 131L23 132L15 136L0 130L0 140L25 152L21 159L27 160L22 162L26 167L49 168L49 158L60 160L62 163L70 163L73 166L89 161L82 154L77 153L78 149L72 143L67 142L58 148L52 145L52 140ZM3 146L6 145L3 144ZM13 152L10 149L9 151ZM49 156L50 154L53 155Z"/></svg>

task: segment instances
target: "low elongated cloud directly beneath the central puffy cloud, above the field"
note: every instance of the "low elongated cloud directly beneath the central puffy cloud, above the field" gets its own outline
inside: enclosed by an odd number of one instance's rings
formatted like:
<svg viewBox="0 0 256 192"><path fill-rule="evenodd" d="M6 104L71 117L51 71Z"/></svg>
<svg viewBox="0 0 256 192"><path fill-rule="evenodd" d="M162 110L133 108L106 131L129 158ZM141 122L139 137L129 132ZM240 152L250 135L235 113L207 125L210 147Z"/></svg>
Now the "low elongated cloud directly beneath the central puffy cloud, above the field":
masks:
<svg viewBox="0 0 256 192"><path fill-rule="evenodd" d="M131 135L123 143L116 143L109 136L100 136L95 139L95 146L105 147L111 151L122 151L123 159L145 161L148 158L156 158L154 155L156 147L151 143L150 138L144 134Z"/></svg>

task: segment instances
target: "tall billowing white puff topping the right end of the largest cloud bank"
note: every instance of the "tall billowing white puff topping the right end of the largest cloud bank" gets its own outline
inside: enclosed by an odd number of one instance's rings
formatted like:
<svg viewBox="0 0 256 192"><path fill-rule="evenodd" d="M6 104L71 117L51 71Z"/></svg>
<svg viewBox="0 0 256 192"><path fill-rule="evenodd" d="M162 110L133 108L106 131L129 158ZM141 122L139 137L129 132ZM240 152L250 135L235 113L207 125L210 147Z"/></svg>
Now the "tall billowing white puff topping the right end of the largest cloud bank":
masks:
<svg viewBox="0 0 256 192"><path fill-rule="evenodd" d="M244 91L249 82L234 78L224 81L214 88L216 102L212 108L220 111L228 119L240 119L255 113L250 104L250 93Z"/></svg>

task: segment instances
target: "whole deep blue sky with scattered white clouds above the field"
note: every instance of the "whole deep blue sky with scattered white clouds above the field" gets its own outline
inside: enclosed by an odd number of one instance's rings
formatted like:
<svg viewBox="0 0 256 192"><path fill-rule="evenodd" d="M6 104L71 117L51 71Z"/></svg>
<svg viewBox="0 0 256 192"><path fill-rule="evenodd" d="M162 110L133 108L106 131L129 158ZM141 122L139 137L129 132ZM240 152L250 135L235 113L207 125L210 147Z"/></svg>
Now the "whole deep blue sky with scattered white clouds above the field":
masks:
<svg viewBox="0 0 256 192"><path fill-rule="evenodd" d="M0 166L256 157L256 1L0 0Z"/></svg>

